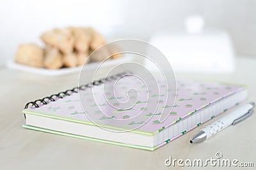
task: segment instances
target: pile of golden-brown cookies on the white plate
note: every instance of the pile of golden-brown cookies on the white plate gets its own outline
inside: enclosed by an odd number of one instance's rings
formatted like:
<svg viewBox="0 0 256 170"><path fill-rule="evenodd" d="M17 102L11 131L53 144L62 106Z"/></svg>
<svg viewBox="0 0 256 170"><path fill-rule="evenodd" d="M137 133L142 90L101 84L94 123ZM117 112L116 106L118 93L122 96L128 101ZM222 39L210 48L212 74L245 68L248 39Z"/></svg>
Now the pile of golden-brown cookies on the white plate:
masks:
<svg viewBox="0 0 256 170"><path fill-rule="evenodd" d="M52 29L44 32L40 38L44 41L45 48L33 43L20 45L15 61L33 67L60 69L106 58L106 55L93 55L88 59L90 53L105 44L104 38L92 27Z"/></svg>

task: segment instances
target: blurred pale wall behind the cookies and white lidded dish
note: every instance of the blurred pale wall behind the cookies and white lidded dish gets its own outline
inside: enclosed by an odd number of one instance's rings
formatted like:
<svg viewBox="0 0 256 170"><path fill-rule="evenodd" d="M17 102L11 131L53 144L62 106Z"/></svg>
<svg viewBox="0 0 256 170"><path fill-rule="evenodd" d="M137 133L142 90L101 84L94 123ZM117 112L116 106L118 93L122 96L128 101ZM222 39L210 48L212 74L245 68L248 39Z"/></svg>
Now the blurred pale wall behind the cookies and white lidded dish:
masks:
<svg viewBox="0 0 256 170"><path fill-rule="evenodd" d="M20 43L42 45L40 34L54 27L92 26L107 41L122 38L150 41L161 30L170 31L170 35L184 31L184 20L191 15L204 18L205 29L226 31L235 55L256 57L256 1L253 0L10 0L0 6L0 65L13 59Z"/></svg>

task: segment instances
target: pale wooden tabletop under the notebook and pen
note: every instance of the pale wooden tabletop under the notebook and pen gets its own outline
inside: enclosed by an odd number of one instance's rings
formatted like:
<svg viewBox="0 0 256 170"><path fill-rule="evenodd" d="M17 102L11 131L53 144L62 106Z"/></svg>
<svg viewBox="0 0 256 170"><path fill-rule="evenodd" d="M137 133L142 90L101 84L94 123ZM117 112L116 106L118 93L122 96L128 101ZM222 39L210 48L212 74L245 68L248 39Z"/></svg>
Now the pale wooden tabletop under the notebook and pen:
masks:
<svg viewBox="0 0 256 170"><path fill-rule="evenodd" d="M248 101L256 101L255 66L256 59L237 57L236 71L232 74L177 74L177 77L246 84ZM149 152L21 127L24 124L21 111L28 101L76 87L78 74L52 78L1 69L0 77L0 169L170 169L172 167L164 166L164 160L170 156L172 159L205 160L215 159L216 152L221 152L223 159L254 162L256 166L256 113L204 143L189 143L198 131L194 129ZM203 124L201 128L215 120Z"/></svg>

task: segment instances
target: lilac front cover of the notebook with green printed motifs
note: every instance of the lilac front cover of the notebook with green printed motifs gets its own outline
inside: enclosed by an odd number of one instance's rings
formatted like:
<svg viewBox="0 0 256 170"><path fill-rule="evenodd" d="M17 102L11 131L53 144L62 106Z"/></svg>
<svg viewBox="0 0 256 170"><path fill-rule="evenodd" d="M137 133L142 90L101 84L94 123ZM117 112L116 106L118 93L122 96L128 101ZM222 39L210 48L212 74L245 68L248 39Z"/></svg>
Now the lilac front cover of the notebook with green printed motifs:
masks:
<svg viewBox="0 0 256 170"><path fill-rule="evenodd" d="M136 90L129 90L132 86L136 87L137 92L147 95L136 96ZM26 113L29 111L29 113L39 113L42 116L53 115L70 121L79 120L85 124L92 124L90 119L92 116L94 120L97 120L97 124L108 125L113 129L116 127L132 129L140 125L138 131L154 133L179 122L182 118L221 100L223 97L243 89L244 87L240 85L179 80L177 81L176 91L175 89L168 89L163 82L159 81L159 93L155 93L150 89L148 90L142 82L133 80L131 76L126 76L122 82L116 83L115 96L108 92L108 89L104 91L102 85L98 85L93 86L93 92L92 89L88 88L83 92L81 91L80 94L74 93L71 96L65 96L63 99L58 99L39 108L28 108ZM176 97L175 103L164 103L166 92L169 96ZM97 102L93 99L92 94ZM84 113L81 107L79 95L83 102L86 102L86 106L90 107L90 113L86 112L88 115ZM121 102L130 98L137 99L134 106L129 109L116 109ZM114 99L118 99L120 102L111 103L111 100ZM155 104L157 103L155 111L148 109L152 106L152 101ZM109 103L116 107L109 106ZM171 111L164 113L167 108L171 108ZM102 112L108 114L105 115ZM159 117L163 115L166 116L166 120L160 122ZM125 124L122 120L125 120Z"/></svg>

